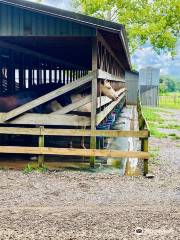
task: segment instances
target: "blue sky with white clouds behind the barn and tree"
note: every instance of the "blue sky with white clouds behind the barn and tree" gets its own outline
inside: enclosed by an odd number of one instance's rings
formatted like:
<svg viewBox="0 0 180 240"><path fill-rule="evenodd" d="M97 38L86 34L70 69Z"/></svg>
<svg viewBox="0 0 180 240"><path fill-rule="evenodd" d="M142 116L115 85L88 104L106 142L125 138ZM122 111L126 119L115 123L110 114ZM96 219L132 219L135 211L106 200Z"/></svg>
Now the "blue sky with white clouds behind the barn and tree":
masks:
<svg viewBox="0 0 180 240"><path fill-rule="evenodd" d="M44 4L73 10L71 0L44 0ZM153 66L160 68L162 75L172 75L180 78L180 41L177 44L177 55L173 59L170 54L158 55L150 44L145 44L131 56L131 62L137 70Z"/></svg>

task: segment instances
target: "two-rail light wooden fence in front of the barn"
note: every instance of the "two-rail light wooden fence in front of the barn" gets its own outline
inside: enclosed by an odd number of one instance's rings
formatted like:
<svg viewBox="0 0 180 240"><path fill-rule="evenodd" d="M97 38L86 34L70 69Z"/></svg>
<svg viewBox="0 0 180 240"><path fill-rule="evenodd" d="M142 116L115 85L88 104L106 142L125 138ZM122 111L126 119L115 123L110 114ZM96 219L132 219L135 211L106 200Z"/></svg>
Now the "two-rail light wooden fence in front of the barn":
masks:
<svg viewBox="0 0 180 240"><path fill-rule="evenodd" d="M44 164L44 155L63 155L63 156L85 156L85 157L114 157L114 158L132 158L147 160L149 153L145 151L119 151L107 149L75 149L75 148L49 148L44 147L45 136L89 136L89 137L136 137L141 141L148 139L149 131L120 131L120 130L75 130L75 129L49 129L39 128L17 128L17 127L0 127L0 134L10 135L34 135L39 138L38 147L19 147L19 146L0 146L0 153L10 154L36 154L40 167ZM147 163L147 162L145 162ZM94 164L91 163L94 167ZM147 165L144 168L144 174L147 174Z"/></svg>

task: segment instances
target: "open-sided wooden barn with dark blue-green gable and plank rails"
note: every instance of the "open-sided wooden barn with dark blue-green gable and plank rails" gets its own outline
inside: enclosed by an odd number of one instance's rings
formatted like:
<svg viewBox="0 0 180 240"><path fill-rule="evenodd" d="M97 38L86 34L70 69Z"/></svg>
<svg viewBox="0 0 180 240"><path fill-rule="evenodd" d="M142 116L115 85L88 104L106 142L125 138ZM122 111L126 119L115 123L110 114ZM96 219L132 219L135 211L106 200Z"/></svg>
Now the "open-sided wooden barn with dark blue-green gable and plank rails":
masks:
<svg viewBox="0 0 180 240"><path fill-rule="evenodd" d="M60 128L96 127L120 102L125 102L125 72L131 71L124 26L24 0L0 0L0 96L34 85L64 86L12 111L0 113L1 126ZM116 101L98 95L107 79ZM51 114L29 113L74 90L90 88L90 96ZM91 103L90 113L79 107ZM91 148L96 138L91 136Z"/></svg>

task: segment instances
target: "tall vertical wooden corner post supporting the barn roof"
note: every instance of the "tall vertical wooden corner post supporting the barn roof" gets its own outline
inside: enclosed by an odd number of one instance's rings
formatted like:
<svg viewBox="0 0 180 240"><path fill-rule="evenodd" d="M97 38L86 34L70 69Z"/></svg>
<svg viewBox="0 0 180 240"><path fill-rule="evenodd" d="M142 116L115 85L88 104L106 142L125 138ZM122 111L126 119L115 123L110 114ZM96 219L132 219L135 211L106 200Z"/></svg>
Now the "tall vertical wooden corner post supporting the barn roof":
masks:
<svg viewBox="0 0 180 240"><path fill-rule="evenodd" d="M97 70L97 38L92 39L92 70ZM97 76L92 80L91 130L96 129ZM91 137L90 148L96 149L96 137ZM95 165L95 156L90 157L90 166Z"/></svg>

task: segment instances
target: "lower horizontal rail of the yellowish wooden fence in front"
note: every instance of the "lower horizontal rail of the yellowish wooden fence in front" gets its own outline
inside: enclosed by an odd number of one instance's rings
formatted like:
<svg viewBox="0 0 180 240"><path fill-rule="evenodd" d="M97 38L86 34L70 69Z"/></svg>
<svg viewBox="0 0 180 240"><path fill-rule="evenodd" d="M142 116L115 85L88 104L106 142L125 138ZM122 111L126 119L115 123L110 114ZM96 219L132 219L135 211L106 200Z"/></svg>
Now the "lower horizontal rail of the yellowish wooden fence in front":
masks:
<svg viewBox="0 0 180 240"><path fill-rule="evenodd" d="M128 152L118 150L99 149L75 149L75 148L47 148L47 147L9 147L0 146L0 153L12 154L37 154L37 155L64 155L64 156L84 156L84 157L114 157L114 158L139 158L148 159L147 152Z"/></svg>

